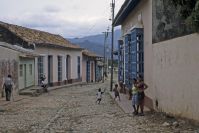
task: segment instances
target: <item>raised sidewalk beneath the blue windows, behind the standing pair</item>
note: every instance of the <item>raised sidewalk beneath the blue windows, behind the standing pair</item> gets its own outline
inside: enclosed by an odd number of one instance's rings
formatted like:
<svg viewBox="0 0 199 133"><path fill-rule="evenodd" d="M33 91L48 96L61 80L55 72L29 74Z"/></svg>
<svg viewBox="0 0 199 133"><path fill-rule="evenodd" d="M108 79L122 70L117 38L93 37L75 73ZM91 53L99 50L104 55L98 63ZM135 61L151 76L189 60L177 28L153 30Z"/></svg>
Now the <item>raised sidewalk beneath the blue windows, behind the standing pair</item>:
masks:
<svg viewBox="0 0 199 133"><path fill-rule="evenodd" d="M110 96L114 99L115 95L114 92L109 91ZM115 100L116 104L124 111L126 114L133 113L132 101L128 99L128 94L120 93L120 101L118 99ZM149 111L146 107L144 111Z"/></svg>

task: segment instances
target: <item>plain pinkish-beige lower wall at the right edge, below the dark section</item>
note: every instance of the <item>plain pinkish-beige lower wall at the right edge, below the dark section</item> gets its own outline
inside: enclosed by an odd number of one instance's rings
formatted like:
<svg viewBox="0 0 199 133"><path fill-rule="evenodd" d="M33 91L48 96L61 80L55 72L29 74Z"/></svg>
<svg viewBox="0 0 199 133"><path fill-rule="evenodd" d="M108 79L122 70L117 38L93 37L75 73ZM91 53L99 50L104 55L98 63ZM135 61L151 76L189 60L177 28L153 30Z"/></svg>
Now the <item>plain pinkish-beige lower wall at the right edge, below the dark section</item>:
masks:
<svg viewBox="0 0 199 133"><path fill-rule="evenodd" d="M153 46L154 99L162 111L199 120L199 35Z"/></svg>

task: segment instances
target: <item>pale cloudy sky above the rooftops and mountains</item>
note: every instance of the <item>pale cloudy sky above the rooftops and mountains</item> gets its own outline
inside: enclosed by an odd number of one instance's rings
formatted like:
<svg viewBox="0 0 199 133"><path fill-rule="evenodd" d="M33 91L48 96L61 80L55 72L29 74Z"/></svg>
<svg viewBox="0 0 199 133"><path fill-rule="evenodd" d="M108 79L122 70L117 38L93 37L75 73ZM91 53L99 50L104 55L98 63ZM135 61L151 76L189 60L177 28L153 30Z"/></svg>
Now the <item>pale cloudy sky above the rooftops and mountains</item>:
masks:
<svg viewBox="0 0 199 133"><path fill-rule="evenodd" d="M0 21L79 38L110 27L112 0L1 0ZM115 0L115 14L125 0Z"/></svg>

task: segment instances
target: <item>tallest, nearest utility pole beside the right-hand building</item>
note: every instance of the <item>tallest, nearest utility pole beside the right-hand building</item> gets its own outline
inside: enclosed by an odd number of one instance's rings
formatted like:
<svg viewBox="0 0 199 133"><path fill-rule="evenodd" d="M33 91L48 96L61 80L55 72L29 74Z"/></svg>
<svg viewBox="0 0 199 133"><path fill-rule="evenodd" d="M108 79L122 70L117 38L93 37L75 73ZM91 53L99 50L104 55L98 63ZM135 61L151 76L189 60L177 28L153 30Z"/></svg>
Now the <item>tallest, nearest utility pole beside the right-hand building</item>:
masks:
<svg viewBox="0 0 199 133"><path fill-rule="evenodd" d="M110 82L110 91L113 90L113 50L114 50L114 12L115 12L115 0L112 0L111 3L112 9L112 40L111 40L111 82Z"/></svg>

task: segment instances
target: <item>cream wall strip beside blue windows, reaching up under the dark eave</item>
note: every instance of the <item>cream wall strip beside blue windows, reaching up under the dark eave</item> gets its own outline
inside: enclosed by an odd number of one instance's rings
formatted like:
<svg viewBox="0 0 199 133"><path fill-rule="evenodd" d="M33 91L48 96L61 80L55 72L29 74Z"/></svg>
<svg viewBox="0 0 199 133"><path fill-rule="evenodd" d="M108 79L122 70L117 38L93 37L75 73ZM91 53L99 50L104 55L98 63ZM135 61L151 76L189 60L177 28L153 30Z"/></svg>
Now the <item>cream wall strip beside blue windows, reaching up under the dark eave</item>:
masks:
<svg viewBox="0 0 199 133"><path fill-rule="evenodd" d="M138 23L138 16L142 14L144 26L144 80L149 89L147 95L152 96L152 0L142 0L122 23L122 36Z"/></svg>

